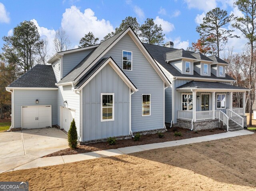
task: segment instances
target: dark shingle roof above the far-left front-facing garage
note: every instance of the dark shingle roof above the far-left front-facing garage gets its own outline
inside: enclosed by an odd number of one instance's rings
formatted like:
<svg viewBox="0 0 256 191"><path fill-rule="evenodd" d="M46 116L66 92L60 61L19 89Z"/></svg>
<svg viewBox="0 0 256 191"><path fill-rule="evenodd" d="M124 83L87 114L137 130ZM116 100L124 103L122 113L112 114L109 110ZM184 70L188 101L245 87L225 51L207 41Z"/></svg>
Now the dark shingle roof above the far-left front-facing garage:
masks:
<svg viewBox="0 0 256 191"><path fill-rule="evenodd" d="M8 87L57 88L52 65L35 65Z"/></svg>

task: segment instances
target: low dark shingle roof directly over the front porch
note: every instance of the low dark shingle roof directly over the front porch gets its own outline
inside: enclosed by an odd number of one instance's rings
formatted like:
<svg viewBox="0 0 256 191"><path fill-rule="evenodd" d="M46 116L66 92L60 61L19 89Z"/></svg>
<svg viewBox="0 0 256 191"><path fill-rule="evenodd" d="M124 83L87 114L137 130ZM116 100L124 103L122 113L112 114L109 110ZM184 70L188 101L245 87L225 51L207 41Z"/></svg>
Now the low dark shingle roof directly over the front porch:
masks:
<svg viewBox="0 0 256 191"><path fill-rule="evenodd" d="M176 89L237 89L237 90L249 90L245 87L232 86L219 82L204 82L204 81L190 81Z"/></svg>

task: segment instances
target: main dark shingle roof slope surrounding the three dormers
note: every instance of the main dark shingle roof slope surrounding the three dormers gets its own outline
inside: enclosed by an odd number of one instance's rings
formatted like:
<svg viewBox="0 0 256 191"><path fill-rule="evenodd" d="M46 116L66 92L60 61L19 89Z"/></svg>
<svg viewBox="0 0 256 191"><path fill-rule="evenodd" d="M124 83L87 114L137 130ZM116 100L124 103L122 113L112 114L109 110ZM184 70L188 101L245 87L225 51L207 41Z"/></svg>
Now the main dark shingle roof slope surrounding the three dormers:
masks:
<svg viewBox="0 0 256 191"><path fill-rule="evenodd" d="M158 45L151 45L143 43L150 55L164 67L170 74L176 77L195 77L195 78L205 78L205 79L222 79L222 80L234 80L232 77L226 74L225 77L216 77L214 74L211 73L211 76L201 76L196 71L194 71L194 75L182 74L176 68L174 68L170 63L166 62L166 53L177 50L168 47L158 46ZM190 52L190 51L187 51Z"/></svg>

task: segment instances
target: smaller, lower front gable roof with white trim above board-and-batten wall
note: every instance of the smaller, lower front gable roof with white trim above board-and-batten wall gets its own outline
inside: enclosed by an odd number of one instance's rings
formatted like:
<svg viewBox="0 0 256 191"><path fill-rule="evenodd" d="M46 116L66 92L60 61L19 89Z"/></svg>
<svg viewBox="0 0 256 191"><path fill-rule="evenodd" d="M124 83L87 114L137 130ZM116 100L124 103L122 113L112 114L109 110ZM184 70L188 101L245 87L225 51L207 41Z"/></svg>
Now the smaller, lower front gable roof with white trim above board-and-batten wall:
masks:
<svg viewBox="0 0 256 191"><path fill-rule="evenodd" d="M125 73L119 68L117 63L112 59L112 57L107 57L99 60L93 67L91 67L90 71L86 73L84 78L76 85L75 89L82 89L103 67L107 64L114 69L114 71L119 75L119 77L132 89L132 91L136 92L138 89L136 86L130 81L130 79L125 75Z"/></svg>

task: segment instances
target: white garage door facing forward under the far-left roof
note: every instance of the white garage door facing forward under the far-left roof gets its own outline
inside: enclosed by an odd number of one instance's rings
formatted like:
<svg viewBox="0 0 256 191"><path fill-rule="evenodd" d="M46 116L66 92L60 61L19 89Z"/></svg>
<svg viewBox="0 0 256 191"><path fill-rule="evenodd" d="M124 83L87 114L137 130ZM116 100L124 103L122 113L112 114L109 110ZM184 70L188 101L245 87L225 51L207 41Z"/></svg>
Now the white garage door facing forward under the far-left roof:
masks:
<svg viewBox="0 0 256 191"><path fill-rule="evenodd" d="M22 106L22 129L52 126L52 106Z"/></svg>

